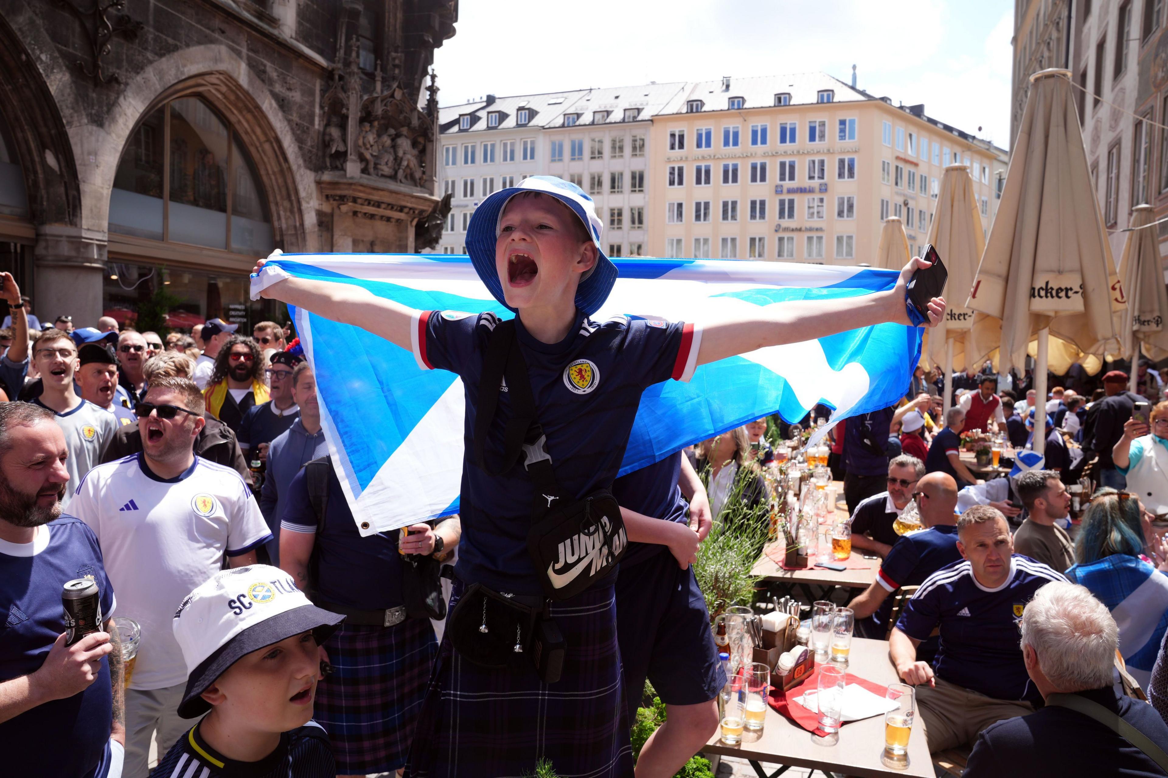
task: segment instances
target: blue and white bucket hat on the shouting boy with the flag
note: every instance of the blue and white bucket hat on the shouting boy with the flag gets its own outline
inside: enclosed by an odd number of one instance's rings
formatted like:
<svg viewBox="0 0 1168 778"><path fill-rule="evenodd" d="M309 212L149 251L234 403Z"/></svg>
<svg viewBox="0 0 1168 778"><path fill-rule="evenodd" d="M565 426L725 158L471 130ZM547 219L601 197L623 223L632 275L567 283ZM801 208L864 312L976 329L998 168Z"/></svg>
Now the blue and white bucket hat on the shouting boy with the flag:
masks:
<svg viewBox="0 0 1168 778"><path fill-rule="evenodd" d="M520 182L517 187L508 187L495 192L482 201L482 204L471 217L471 224L466 230L466 252L471 255L471 264L479 278L487 285L496 300L507 306L503 299L503 287L499 282L499 273L495 270L495 241L499 238L499 217L503 213L513 196L520 192L542 192L556 197L579 216L592 236L596 244L597 261L592 270L584 273L579 286L576 289L576 307L591 315L599 310L604 301L609 299L612 285L617 283L617 266L604 253L600 248L600 232L604 224L596 215L596 203L592 197L570 181L557 179L554 175L531 175Z"/></svg>

